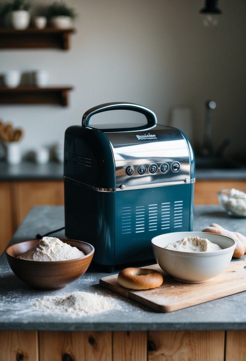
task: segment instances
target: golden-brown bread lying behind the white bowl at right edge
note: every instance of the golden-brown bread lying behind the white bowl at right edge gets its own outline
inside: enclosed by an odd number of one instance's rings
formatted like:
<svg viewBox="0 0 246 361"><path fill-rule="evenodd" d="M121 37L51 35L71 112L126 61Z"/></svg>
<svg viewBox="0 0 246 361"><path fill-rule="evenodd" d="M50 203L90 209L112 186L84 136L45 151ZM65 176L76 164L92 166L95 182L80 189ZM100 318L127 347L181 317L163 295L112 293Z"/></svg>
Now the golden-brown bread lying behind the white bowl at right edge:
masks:
<svg viewBox="0 0 246 361"><path fill-rule="evenodd" d="M234 239L236 247L233 253L234 258L241 258L246 253L246 237L239 232L229 231L217 223L212 223L209 227L206 227L202 232L217 233Z"/></svg>

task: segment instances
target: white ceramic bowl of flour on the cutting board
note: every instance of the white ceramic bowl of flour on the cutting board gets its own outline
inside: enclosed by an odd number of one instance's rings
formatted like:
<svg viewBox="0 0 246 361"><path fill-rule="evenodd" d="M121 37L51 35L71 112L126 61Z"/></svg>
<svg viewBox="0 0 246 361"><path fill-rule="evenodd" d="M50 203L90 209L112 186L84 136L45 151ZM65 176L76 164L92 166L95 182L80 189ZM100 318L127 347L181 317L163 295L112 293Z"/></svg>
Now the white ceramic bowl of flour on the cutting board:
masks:
<svg viewBox="0 0 246 361"><path fill-rule="evenodd" d="M207 238L222 249L213 252L180 252L166 249L168 243L174 243L184 237ZM163 271L181 282L207 282L223 272L230 260L236 242L227 236L207 232L173 232L162 234L151 240L154 256Z"/></svg>

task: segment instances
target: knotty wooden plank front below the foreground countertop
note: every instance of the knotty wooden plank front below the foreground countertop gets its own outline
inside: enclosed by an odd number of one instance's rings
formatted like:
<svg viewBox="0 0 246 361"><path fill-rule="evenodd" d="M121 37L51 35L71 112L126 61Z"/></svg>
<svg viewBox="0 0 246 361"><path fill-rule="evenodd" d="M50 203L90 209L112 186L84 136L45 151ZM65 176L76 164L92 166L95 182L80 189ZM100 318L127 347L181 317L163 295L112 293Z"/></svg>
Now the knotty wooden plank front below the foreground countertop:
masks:
<svg viewBox="0 0 246 361"><path fill-rule="evenodd" d="M244 361L245 336L246 331L0 331L0 360Z"/></svg>

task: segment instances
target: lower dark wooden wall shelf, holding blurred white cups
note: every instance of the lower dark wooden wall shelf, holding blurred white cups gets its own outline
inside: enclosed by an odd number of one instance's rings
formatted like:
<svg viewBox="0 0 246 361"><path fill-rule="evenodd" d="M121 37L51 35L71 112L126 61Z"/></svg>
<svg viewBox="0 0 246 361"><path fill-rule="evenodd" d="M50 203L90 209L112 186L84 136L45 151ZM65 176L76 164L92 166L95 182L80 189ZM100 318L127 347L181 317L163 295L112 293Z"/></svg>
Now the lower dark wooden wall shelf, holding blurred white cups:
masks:
<svg viewBox="0 0 246 361"><path fill-rule="evenodd" d="M59 104L68 105L67 93L72 87L19 86L0 87L0 104Z"/></svg>

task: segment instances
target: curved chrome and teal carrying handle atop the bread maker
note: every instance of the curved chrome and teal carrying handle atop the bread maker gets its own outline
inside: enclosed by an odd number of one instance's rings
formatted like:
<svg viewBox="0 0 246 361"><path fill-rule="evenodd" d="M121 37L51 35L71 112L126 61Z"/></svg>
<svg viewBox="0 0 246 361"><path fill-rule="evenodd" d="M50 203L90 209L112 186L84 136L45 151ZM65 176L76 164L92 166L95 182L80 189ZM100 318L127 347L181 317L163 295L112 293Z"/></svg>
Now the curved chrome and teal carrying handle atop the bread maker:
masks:
<svg viewBox="0 0 246 361"><path fill-rule="evenodd" d="M133 110L134 112L142 113L145 115L148 127L153 127L157 124L157 118L155 113L142 105L132 103L105 103L94 106L93 108L87 110L87 112L84 113L82 117L82 127L89 126L89 120L93 115L106 112L107 110ZM142 126L140 126L139 129L142 129Z"/></svg>

